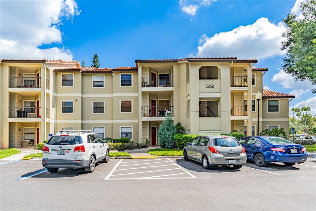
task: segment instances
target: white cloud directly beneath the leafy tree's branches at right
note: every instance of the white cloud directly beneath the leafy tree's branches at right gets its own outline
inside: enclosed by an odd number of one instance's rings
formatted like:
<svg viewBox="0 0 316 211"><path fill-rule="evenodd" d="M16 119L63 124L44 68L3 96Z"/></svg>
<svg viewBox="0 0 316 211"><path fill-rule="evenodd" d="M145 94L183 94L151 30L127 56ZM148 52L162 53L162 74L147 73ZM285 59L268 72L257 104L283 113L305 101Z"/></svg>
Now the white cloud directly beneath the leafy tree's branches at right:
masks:
<svg viewBox="0 0 316 211"><path fill-rule="evenodd" d="M285 73L283 70L280 70L278 73L274 74L272 82L279 83L283 88L288 89L312 89L315 88L308 80L295 81L293 76Z"/></svg>

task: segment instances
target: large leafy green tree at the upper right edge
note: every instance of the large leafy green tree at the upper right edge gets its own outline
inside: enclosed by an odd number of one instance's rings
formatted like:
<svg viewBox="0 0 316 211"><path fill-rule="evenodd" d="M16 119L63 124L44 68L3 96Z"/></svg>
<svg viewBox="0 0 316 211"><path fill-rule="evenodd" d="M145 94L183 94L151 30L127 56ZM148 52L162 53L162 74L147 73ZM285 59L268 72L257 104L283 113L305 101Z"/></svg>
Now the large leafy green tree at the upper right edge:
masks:
<svg viewBox="0 0 316 211"><path fill-rule="evenodd" d="M281 49L286 50L282 66L295 80L309 80L316 85L316 0L306 0L300 8L300 18L288 14L283 19L288 29L282 35L285 40Z"/></svg>

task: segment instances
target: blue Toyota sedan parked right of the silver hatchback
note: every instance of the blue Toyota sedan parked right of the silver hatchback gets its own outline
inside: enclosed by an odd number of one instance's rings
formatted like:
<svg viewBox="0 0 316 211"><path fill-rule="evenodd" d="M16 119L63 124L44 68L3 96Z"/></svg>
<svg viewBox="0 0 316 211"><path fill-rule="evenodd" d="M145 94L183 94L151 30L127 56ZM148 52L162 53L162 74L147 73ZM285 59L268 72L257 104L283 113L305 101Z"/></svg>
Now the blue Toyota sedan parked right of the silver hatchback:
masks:
<svg viewBox="0 0 316 211"><path fill-rule="evenodd" d="M307 159L306 148L284 138L274 136L242 137L239 143L245 147L248 160L264 167L269 162L282 162L287 166L303 163Z"/></svg>

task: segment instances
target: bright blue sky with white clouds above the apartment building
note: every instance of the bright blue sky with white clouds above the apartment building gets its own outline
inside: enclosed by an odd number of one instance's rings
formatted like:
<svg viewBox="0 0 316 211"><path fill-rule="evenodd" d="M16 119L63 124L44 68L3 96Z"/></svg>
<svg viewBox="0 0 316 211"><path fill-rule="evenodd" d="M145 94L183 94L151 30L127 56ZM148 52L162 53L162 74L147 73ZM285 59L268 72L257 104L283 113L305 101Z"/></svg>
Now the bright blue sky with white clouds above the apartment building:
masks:
<svg viewBox="0 0 316 211"><path fill-rule="evenodd" d="M97 52L100 67L108 68L135 66L135 59L188 56L258 59L255 67L269 68L264 75L265 86L295 94L298 98L293 99L290 106L310 106L316 114L316 97L309 91L312 88L309 82L294 82L281 71L284 52L280 51L279 43L280 34L285 30L282 18L291 11L298 12L295 1L69 0L49 5L56 8L54 12L41 12L38 3L34 8L30 6L33 2L26 2L24 6L25 2L2 2L1 19L9 17L10 10L16 7L21 7L22 13L29 8L33 16L22 14L21 22L29 19L35 22L30 28L43 28L43 31L48 28L52 32L35 42L31 35L23 37L26 35L22 26L1 22L3 46L5 42L13 49L23 47L25 52L35 49L38 53L32 55L47 59L84 60L86 66L91 65L93 54ZM47 16L46 22L35 19L37 15L43 20ZM12 27L20 28L21 34L10 35ZM30 53L19 55L17 51L3 48L1 57L30 57Z"/></svg>

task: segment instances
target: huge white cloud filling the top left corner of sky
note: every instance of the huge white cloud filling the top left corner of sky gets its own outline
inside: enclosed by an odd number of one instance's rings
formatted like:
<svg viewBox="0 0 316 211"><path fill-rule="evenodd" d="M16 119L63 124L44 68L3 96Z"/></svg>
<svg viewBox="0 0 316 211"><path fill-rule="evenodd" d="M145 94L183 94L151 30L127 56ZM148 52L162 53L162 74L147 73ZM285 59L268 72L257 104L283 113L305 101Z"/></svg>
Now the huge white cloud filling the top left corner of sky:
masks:
<svg viewBox="0 0 316 211"><path fill-rule="evenodd" d="M74 0L1 2L2 59L71 59L64 48L40 49L43 44L62 43L59 26L81 11Z"/></svg>

